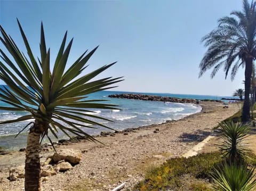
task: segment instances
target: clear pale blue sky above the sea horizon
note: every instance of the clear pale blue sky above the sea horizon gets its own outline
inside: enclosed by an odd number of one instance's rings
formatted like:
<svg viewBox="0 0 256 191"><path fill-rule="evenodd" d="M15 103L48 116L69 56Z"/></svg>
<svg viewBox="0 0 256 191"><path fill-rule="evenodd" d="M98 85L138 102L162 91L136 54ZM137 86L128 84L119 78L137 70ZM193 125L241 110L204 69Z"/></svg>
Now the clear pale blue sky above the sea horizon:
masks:
<svg viewBox="0 0 256 191"><path fill-rule="evenodd" d="M220 70L198 79L206 51L201 38L221 16L241 10L241 0L161 1L2 1L0 23L21 49L16 18L39 55L40 22L55 57L65 31L74 37L69 63L100 45L87 71L118 61L101 76L125 76L115 90L176 94L231 95L243 88L243 69L234 81ZM2 45L1 45L2 46ZM0 81L1 83L1 81Z"/></svg>

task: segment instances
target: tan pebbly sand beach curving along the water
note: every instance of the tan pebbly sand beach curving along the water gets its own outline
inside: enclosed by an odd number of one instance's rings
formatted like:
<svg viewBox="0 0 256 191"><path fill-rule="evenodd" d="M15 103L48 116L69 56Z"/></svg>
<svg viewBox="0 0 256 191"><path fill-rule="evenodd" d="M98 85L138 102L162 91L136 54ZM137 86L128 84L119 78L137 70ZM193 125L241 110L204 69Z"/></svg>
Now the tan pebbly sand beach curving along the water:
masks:
<svg viewBox="0 0 256 191"><path fill-rule="evenodd" d="M237 104L228 109L217 102L201 102L203 110L176 121L126 130L97 139L102 144L87 141L61 145L83 153L82 161L73 169L48 177L41 183L42 190L111 190L126 182L125 188L143 179L146 171L170 157L188 152L198 142L213 133L218 122L239 110ZM53 150L42 152L41 161ZM23 179L9 181L9 168L23 165L25 152L0 155L0 190L22 190Z"/></svg>

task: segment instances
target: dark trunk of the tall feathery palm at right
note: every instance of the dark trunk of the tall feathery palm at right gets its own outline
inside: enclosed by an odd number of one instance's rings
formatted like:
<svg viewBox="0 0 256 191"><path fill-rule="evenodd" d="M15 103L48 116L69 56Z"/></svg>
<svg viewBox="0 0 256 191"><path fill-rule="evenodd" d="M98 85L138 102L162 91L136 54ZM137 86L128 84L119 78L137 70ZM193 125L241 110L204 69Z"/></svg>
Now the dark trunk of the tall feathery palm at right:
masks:
<svg viewBox="0 0 256 191"><path fill-rule="evenodd" d="M245 60L245 83L244 83L244 106L242 121L246 123L250 120L250 88L252 77L252 58L247 57Z"/></svg>

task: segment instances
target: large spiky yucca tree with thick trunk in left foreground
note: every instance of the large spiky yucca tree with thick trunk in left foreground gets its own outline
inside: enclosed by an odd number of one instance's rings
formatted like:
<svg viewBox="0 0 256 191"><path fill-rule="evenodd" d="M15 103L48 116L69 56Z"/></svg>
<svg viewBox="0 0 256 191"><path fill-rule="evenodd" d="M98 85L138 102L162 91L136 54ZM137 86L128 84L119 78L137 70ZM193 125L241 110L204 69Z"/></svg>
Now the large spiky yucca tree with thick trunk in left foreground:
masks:
<svg viewBox="0 0 256 191"><path fill-rule="evenodd" d="M91 100L87 95L109 89L111 88L109 85L122 79L109 77L92 80L114 63L81 76L87 67L86 62L97 47L87 54L87 51L85 51L70 68L65 70L73 41L71 39L65 48L67 32L55 59L53 71L51 71L50 48L46 50L43 24L41 24L40 59L35 59L19 21L18 25L26 46L27 56L19 50L11 36L8 36L0 26L2 34L0 39L7 50L7 53L5 53L3 49L0 49L0 56L3 60L3 62L0 61L0 79L8 86L7 88L0 88L0 100L9 105L0 106L0 109L26 111L29 114L1 123L34 120L22 129L23 131L29 128L25 164L25 190L40 190L40 140L42 141L44 137L47 137L52 143L48 132L50 131L54 137L58 138L57 132L60 130L69 137L69 133L71 133L95 141L83 128L92 128L89 126L90 124L107 128L103 124L91 120L96 118L107 119L88 114L89 109L113 109L115 105L97 103L103 100ZM7 55L11 55L12 58Z"/></svg>

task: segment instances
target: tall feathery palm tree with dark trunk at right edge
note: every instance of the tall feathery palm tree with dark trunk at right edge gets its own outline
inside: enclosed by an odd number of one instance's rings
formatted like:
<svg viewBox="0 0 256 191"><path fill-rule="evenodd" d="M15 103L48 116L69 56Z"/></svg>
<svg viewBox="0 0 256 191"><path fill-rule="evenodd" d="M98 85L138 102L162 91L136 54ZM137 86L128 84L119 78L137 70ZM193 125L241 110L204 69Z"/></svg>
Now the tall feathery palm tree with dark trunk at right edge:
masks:
<svg viewBox="0 0 256 191"><path fill-rule="evenodd" d="M231 80L237 69L245 66L245 97L243 105L243 122L250 120L250 87L252 64L256 59L256 2L243 1L243 11L233 11L231 16L219 19L217 29L203 37L208 47L200 65L199 77L213 68L211 78L220 67L224 67L226 78L231 69ZM233 67L231 67L233 66Z"/></svg>

